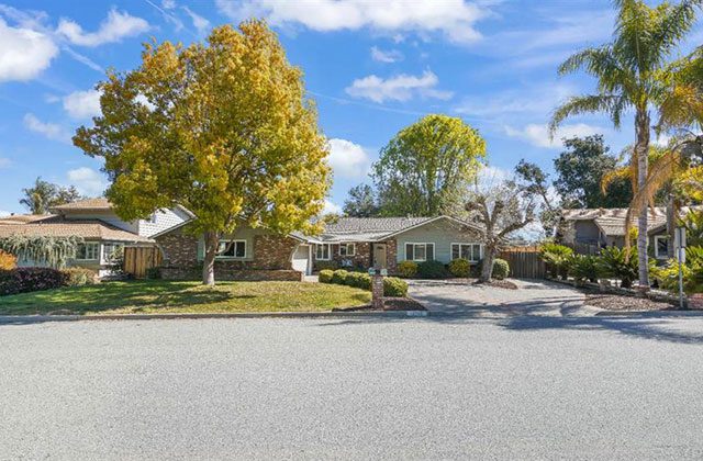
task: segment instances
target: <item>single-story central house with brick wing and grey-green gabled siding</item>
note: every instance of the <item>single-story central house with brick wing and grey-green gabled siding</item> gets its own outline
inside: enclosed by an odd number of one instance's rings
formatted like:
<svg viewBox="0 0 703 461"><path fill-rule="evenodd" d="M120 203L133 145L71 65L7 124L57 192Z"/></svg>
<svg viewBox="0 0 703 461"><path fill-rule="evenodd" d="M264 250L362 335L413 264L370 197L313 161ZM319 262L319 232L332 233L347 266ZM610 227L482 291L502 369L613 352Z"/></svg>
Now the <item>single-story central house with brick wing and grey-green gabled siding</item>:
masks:
<svg viewBox="0 0 703 461"><path fill-rule="evenodd" d="M422 262L483 257L479 228L450 216L339 217L319 236L280 236L263 228L239 227L221 239L215 273L222 280L301 280L330 265L388 269L404 260ZM199 277L204 256L202 237L181 225L153 236L164 252L161 276Z"/></svg>

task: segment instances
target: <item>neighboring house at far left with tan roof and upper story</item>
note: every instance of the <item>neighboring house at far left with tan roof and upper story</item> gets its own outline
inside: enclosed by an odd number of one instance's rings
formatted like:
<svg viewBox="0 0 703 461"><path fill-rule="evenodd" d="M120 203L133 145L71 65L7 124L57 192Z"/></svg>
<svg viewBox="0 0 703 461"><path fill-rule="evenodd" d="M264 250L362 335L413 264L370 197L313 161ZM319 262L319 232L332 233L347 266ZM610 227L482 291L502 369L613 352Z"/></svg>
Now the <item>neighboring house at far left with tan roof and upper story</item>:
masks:
<svg viewBox="0 0 703 461"><path fill-rule="evenodd" d="M114 255L125 245L153 245L152 235L193 217L181 206L154 213L148 220L125 222L113 211L107 199L88 199L51 209L49 215L0 217L0 238L12 235L81 237L76 259L69 267L93 269L100 277L109 276ZM41 266L18 255L22 267Z"/></svg>

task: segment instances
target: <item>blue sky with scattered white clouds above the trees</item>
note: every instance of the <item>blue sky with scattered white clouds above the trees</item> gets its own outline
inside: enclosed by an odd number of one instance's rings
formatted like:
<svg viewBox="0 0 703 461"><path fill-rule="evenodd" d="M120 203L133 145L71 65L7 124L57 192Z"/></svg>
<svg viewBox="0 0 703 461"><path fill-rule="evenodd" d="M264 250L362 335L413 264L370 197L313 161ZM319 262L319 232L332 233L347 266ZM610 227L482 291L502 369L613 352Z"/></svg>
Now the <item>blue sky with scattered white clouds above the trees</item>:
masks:
<svg viewBox="0 0 703 461"><path fill-rule="evenodd" d="M560 136L602 133L616 153L633 138L629 121L615 132L598 115L570 120L555 142L546 131L560 101L594 88L556 69L609 41L610 1L15 1L0 3L0 215L25 212L21 189L37 176L104 189L100 161L70 144L99 110L103 69L136 67L150 37L190 43L249 16L268 19L317 102L335 173L328 210L427 113L478 128L499 173L521 158L551 170ZM683 50L701 38L696 30Z"/></svg>

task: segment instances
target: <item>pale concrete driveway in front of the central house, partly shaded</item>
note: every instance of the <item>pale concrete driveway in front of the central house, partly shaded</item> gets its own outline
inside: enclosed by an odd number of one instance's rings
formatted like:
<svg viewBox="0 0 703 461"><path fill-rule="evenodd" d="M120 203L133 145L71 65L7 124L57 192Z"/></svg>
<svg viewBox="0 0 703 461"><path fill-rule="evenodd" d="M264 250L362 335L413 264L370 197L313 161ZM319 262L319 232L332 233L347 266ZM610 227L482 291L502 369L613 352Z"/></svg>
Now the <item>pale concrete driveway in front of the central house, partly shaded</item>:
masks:
<svg viewBox="0 0 703 461"><path fill-rule="evenodd" d="M431 312L476 317L593 315L583 293L544 280L512 280L517 290L455 280L410 280L409 294Z"/></svg>

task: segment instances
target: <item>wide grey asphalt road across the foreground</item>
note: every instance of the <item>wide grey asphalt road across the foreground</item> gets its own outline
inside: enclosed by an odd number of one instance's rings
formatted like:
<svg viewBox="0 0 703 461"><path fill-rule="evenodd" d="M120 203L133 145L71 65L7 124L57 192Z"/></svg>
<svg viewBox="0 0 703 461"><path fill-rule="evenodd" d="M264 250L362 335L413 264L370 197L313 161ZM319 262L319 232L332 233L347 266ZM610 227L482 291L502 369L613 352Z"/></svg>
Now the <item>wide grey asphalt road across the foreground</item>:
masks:
<svg viewBox="0 0 703 461"><path fill-rule="evenodd" d="M0 325L0 459L701 459L703 318Z"/></svg>

